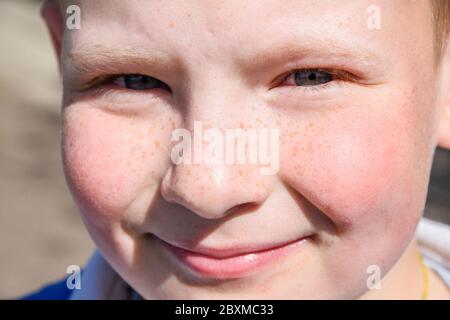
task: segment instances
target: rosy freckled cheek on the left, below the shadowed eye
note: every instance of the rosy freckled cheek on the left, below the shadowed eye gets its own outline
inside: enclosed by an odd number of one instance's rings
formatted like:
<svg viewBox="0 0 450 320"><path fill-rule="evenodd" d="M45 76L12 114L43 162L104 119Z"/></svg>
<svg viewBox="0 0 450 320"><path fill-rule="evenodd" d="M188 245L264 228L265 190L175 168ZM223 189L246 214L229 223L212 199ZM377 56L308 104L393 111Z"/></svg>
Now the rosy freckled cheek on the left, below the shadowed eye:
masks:
<svg viewBox="0 0 450 320"><path fill-rule="evenodd" d="M122 218L143 189L154 188L168 160L169 116L142 120L85 105L64 113L63 160L75 200L89 218Z"/></svg>

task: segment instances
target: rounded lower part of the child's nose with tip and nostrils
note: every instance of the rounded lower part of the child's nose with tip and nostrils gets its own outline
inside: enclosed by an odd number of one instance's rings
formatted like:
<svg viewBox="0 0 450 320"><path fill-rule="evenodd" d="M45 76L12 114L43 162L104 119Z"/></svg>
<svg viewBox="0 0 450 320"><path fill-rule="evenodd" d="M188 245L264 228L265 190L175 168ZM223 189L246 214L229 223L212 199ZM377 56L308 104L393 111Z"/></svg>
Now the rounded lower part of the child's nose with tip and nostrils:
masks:
<svg viewBox="0 0 450 320"><path fill-rule="evenodd" d="M261 205L272 190L270 176L250 165L173 165L161 184L162 197L205 219Z"/></svg>

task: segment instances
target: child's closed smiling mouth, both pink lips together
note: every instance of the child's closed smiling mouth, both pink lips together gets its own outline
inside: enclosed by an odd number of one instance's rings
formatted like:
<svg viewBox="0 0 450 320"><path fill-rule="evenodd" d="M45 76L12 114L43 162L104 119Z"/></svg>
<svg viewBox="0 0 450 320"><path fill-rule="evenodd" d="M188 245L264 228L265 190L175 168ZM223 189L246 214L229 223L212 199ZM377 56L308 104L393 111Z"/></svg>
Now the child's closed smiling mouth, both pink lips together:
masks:
<svg viewBox="0 0 450 320"><path fill-rule="evenodd" d="M175 257L177 263L195 274L211 279L234 279L253 274L297 250L311 236L281 244L241 246L216 249L197 246L186 248L161 240L163 247Z"/></svg>

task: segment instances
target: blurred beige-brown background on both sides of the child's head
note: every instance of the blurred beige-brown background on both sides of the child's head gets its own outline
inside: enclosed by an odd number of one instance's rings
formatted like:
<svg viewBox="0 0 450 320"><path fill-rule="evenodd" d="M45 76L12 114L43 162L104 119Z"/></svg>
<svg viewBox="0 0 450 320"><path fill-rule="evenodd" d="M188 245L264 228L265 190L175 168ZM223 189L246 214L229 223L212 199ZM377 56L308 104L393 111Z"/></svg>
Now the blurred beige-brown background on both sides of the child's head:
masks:
<svg viewBox="0 0 450 320"><path fill-rule="evenodd" d="M0 0L0 299L61 279L94 246L66 187L61 86L39 0ZM450 152L438 149L426 216L450 224Z"/></svg>

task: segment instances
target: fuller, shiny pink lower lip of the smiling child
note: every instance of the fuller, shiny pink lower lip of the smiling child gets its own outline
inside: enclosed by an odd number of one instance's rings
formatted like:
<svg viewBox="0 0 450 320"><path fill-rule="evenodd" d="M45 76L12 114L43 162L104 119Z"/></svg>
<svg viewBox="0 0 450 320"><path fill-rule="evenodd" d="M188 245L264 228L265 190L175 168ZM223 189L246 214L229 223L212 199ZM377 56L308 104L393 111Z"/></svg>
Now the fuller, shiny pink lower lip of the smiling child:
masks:
<svg viewBox="0 0 450 320"><path fill-rule="evenodd" d="M191 271L213 279L233 279L248 276L280 259L303 244L307 238L264 251L246 253L228 258L216 258L163 243L169 251Z"/></svg>

